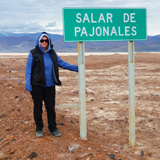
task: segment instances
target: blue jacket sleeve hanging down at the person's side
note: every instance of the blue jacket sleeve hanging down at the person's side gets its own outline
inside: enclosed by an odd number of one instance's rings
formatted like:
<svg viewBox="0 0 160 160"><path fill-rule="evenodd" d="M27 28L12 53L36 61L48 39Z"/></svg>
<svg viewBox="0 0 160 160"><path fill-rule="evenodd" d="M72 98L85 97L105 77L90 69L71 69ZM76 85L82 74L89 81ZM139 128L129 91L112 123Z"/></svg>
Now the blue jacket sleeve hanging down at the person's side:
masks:
<svg viewBox="0 0 160 160"><path fill-rule="evenodd" d="M27 58L26 70L25 70L25 80L26 80L25 89L28 92L32 91L31 73L32 73L33 64L34 64L33 56L32 56L32 53L30 52Z"/></svg>

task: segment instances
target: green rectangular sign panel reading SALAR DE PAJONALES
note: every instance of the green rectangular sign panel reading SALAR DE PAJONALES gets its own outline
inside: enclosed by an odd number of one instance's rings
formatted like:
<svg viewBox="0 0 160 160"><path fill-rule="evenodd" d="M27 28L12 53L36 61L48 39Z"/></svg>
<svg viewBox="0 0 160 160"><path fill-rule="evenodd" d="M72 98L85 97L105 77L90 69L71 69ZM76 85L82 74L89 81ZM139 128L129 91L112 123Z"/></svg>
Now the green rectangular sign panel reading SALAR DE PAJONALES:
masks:
<svg viewBox="0 0 160 160"><path fill-rule="evenodd" d="M147 39L146 9L63 8L65 42Z"/></svg>

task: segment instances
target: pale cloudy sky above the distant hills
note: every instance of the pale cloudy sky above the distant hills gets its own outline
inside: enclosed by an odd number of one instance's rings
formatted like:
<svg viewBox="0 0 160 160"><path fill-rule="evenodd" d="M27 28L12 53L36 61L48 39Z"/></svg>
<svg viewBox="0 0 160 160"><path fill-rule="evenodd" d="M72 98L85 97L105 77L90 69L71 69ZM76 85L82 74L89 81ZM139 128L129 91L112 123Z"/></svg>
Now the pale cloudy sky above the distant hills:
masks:
<svg viewBox="0 0 160 160"><path fill-rule="evenodd" d="M0 32L63 34L63 7L146 8L147 34L160 35L159 0L0 0Z"/></svg>

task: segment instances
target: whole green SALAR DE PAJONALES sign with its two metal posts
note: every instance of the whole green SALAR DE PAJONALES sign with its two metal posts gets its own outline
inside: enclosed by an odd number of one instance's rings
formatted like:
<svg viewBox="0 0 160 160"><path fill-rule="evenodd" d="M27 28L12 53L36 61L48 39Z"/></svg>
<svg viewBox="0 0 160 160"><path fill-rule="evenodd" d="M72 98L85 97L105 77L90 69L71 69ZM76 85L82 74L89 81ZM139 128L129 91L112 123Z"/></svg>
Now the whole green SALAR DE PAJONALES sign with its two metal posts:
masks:
<svg viewBox="0 0 160 160"><path fill-rule="evenodd" d="M86 139L85 41L128 41L129 146L135 146L134 41L147 39L146 9L63 8L65 42L78 42L80 137Z"/></svg>

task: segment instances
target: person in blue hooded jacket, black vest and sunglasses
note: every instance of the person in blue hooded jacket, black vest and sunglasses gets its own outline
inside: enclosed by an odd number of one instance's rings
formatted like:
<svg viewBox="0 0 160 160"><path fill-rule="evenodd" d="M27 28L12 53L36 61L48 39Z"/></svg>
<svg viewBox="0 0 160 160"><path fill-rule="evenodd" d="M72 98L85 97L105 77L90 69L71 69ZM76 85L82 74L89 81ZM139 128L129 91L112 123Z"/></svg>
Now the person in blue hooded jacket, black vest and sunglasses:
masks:
<svg viewBox="0 0 160 160"><path fill-rule="evenodd" d="M32 95L37 137L43 137L43 101L47 110L50 135L61 136L57 129L55 112L55 85L61 85L58 67L78 72L77 65L71 65L59 58L53 49L49 34L42 32L35 48L28 55L25 70L25 89Z"/></svg>

